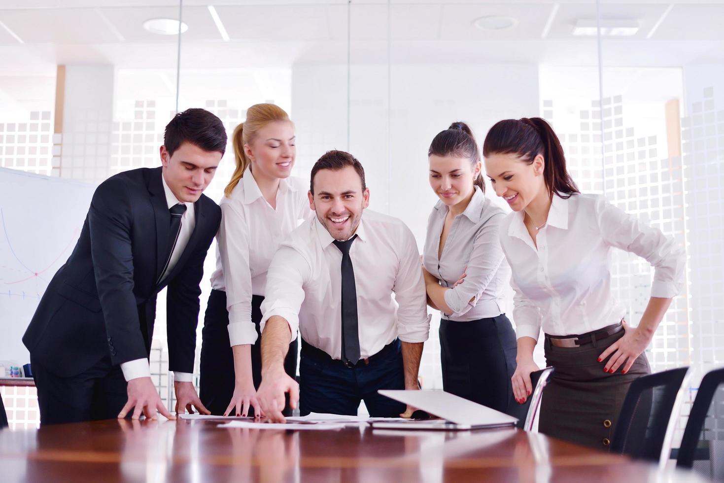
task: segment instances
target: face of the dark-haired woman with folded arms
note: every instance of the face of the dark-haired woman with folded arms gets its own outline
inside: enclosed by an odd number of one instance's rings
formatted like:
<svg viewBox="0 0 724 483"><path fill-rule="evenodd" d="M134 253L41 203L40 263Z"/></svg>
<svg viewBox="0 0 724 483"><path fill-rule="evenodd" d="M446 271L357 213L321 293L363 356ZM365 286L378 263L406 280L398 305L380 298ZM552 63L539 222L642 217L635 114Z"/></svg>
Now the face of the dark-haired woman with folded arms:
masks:
<svg viewBox="0 0 724 483"><path fill-rule="evenodd" d="M473 180L480 174L481 164L473 166L470 159L458 156L429 157L430 186L447 206L468 200L474 190Z"/></svg>

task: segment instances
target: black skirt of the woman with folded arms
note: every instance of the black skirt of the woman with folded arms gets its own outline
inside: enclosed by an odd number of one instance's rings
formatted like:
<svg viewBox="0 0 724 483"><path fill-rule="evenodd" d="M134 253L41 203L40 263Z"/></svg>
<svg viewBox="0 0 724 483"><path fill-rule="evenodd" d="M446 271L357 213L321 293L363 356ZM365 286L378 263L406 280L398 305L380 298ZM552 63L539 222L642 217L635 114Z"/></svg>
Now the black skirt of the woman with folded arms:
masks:
<svg viewBox="0 0 724 483"><path fill-rule="evenodd" d="M508 317L500 314L471 322L442 319L439 334L445 392L503 413L513 410L510 378L517 367L518 348Z"/></svg>

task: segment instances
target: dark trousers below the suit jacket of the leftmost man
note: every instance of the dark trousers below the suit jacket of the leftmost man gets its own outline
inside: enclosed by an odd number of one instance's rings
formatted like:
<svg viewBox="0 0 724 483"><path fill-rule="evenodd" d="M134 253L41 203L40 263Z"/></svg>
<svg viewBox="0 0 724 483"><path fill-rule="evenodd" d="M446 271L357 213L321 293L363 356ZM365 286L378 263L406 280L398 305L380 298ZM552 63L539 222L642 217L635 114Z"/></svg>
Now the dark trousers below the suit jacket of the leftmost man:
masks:
<svg viewBox="0 0 724 483"><path fill-rule="evenodd" d="M121 366L105 356L90 369L59 377L30 356L41 425L116 418L128 400Z"/></svg>

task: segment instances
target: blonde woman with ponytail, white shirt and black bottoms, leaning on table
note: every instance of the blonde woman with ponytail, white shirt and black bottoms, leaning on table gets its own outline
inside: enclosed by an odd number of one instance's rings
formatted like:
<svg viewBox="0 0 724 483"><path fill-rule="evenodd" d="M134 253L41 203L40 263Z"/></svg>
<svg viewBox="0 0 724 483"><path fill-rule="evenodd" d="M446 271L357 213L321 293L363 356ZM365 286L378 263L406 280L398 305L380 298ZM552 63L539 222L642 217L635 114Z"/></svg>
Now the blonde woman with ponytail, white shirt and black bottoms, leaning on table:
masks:
<svg viewBox="0 0 724 483"><path fill-rule="evenodd" d="M246 416L251 407L259 416L259 307L266 271L279 243L313 211L306 182L290 177L295 133L282 108L251 106L233 143L236 169L219 203L216 271L203 323L200 397L212 414ZM295 377L297 340L290 344L285 370Z"/></svg>

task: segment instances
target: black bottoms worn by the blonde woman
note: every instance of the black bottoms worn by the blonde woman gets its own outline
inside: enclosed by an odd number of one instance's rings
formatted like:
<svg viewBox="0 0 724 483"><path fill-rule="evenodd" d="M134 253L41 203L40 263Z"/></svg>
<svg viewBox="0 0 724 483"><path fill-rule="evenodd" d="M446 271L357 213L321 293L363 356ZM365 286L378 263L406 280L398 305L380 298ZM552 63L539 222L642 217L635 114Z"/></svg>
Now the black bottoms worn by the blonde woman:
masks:
<svg viewBox="0 0 724 483"><path fill-rule="evenodd" d="M251 346L251 376L254 387L258 389L261 384L261 302L264 297L253 295L251 299L251 321L256 326L256 343ZM226 308L226 292L211 290L209 304L206 306L206 315L203 319L201 331L201 363L200 363L200 391L199 398L211 414L223 414L234 395L234 352L229 341L229 311ZM289 345L289 352L284 361L284 369L290 377L297 375L297 340ZM254 413L249 408L249 415ZM292 410L288 405L284 411L285 416L291 416Z"/></svg>

